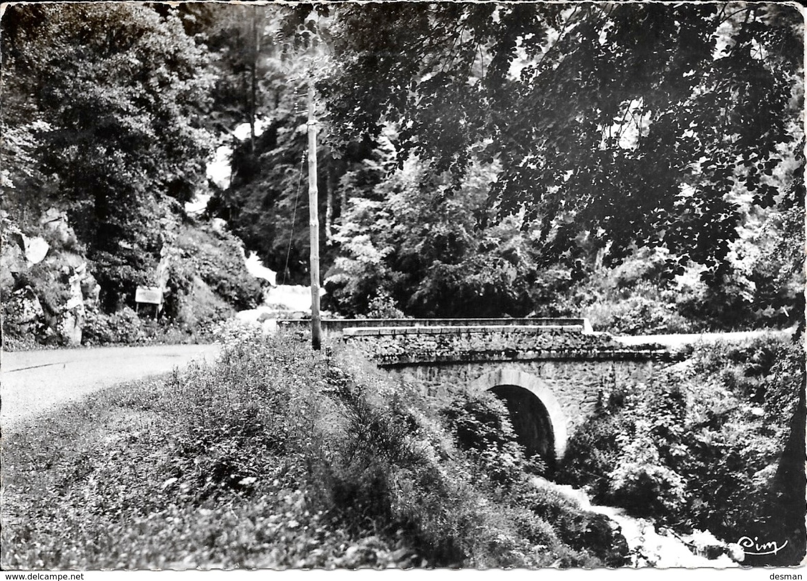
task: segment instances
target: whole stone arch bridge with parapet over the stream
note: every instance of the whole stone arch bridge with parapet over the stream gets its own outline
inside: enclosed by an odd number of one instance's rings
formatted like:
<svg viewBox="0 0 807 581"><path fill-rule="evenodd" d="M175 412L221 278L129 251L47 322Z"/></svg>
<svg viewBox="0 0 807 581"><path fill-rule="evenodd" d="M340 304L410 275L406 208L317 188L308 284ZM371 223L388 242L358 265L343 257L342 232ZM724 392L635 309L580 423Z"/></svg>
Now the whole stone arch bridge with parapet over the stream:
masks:
<svg viewBox="0 0 807 581"><path fill-rule="evenodd" d="M528 454L550 466L600 397L646 384L675 359L662 347L627 347L582 318L337 319L323 330L429 395L449 385L493 392Z"/></svg>

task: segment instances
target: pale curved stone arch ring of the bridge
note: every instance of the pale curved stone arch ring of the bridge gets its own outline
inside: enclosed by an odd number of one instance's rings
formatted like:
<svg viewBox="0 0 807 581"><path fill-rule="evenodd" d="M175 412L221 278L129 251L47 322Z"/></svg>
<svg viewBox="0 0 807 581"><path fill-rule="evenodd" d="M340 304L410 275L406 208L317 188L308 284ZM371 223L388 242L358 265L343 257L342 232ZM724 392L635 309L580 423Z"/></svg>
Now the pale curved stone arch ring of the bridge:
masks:
<svg viewBox="0 0 807 581"><path fill-rule="evenodd" d="M500 368L471 382L469 389L475 392L490 391L505 400L511 413L513 428L521 438L545 438L554 451L555 461L563 458L567 446L567 420L560 403L536 376L508 367ZM513 417L513 408L520 408L525 416ZM528 425L529 423L529 425ZM525 429L533 434L525 434ZM528 450L530 446L527 446ZM534 448L534 445L533 445Z"/></svg>

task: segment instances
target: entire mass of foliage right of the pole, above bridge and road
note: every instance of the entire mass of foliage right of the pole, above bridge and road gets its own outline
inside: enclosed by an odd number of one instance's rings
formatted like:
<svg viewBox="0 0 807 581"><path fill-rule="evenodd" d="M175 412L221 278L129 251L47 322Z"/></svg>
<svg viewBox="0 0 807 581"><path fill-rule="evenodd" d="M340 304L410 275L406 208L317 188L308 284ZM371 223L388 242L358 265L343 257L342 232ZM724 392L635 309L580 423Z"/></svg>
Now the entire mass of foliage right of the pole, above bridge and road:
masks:
<svg viewBox="0 0 807 581"><path fill-rule="evenodd" d="M318 61L330 143L372 139L387 169L342 190L333 308L366 312L379 288L413 315L582 308L629 333L801 320L803 257L776 243L804 239L795 10L299 11L332 48ZM491 219L524 234L491 241ZM604 288L626 259L652 261L647 284Z"/></svg>

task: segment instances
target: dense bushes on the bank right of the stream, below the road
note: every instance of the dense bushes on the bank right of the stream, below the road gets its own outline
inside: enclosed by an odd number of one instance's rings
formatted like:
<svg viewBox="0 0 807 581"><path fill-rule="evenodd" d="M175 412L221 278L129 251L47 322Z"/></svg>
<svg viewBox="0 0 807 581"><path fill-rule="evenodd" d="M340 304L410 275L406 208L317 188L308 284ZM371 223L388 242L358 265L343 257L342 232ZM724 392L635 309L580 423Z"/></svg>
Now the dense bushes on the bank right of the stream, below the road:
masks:
<svg viewBox="0 0 807 581"><path fill-rule="evenodd" d="M700 345L653 384L604 395L570 438L558 479L684 532L788 540L745 563L797 563L805 485L788 467L804 466L803 382L799 345Z"/></svg>

